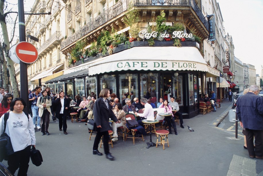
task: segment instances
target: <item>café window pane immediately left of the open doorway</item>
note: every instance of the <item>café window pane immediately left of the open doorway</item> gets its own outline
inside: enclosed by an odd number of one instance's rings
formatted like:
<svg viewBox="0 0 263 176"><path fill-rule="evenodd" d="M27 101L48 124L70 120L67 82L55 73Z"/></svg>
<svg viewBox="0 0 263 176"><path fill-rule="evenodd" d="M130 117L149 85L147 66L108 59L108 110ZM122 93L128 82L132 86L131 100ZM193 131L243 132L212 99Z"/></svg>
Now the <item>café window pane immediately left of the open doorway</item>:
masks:
<svg viewBox="0 0 263 176"><path fill-rule="evenodd" d="M140 74L141 98L151 98L151 102L155 104L158 100L158 84L157 73Z"/></svg>

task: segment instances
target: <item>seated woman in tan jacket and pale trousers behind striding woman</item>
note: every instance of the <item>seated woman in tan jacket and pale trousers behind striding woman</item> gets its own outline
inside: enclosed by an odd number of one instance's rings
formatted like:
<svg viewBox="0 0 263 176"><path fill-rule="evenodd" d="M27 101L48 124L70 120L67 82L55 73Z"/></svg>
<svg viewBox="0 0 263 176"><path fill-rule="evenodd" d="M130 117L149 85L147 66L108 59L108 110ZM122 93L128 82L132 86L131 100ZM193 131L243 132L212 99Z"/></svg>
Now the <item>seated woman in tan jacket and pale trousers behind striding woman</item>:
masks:
<svg viewBox="0 0 263 176"><path fill-rule="evenodd" d="M120 120L119 122L112 122L112 131L113 131L113 135L112 137L114 137L112 139L112 141L117 141L118 140L118 134L117 134L117 128L118 127L123 127L124 129L126 129L126 125L125 125L125 112L122 110L122 106L120 103L116 103L115 108L113 110L115 116L117 117L118 120Z"/></svg>

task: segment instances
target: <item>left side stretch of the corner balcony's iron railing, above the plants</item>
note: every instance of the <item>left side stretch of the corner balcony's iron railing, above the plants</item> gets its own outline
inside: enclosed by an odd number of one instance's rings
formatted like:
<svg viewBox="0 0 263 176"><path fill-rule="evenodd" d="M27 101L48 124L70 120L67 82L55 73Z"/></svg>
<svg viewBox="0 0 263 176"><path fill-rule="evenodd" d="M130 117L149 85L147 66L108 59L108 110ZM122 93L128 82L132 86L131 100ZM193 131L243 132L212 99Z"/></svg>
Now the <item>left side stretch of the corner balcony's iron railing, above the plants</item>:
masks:
<svg viewBox="0 0 263 176"><path fill-rule="evenodd" d="M111 20L115 16L121 14L123 11L127 10L129 4L129 0L120 0L114 6L107 9L105 12L100 13L94 20L88 22L85 26L83 26L80 30L75 32L73 35L69 36L66 40L61 42L61 49L64 49L66 46L71 43L77 41L82 36L85 36L93 29L97 28L100 25L103 25L107 21Z"/></svg>

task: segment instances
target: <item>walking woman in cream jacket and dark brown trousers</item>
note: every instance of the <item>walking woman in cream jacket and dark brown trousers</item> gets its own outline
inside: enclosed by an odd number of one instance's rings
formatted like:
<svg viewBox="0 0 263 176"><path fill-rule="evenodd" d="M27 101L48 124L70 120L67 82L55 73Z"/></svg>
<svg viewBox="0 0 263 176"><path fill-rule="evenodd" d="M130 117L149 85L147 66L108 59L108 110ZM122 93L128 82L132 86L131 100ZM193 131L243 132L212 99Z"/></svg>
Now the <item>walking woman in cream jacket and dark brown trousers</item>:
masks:
<svg viewBox="0 0 263 176"><path fill-rule="evenodd" d="M41 117L42 125L41 132L42 136L49 135L49 115L51 114L51 97L47 95L47 90L42 90L42 96L38 98L36 106L38 107L38 115Z"/></svg>

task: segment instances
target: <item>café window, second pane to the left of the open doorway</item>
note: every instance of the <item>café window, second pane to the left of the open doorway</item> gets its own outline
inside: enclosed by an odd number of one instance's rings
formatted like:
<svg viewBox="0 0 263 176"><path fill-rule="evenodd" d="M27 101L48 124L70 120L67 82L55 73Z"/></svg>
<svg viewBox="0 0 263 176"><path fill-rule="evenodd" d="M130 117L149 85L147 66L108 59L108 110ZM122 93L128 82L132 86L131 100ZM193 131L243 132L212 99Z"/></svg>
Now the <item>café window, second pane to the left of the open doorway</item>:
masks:
<svg viewBox="0 0 263 176"><path fill-rule="evenodd" d="M123 98L125 92L132 91L135 97L138 97L138 76L137 74L121 74L119 75L119 97ZM132 100L133 102L133 100Z"/></svg>

